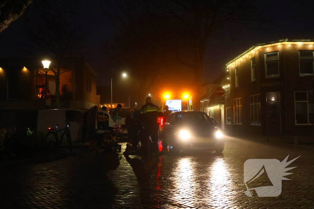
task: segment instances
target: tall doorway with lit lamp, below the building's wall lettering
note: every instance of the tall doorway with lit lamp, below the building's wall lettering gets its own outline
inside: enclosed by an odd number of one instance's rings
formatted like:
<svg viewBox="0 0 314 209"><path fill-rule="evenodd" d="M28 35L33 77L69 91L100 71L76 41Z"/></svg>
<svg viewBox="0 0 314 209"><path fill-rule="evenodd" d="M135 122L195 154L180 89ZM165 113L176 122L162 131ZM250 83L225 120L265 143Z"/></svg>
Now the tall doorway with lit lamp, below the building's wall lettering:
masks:
<svg viewBox="0 0 314 209"><path fill-rule="evenodd" d="M269 135L281 134L280 92L266 93L267 128Z"/></svg>

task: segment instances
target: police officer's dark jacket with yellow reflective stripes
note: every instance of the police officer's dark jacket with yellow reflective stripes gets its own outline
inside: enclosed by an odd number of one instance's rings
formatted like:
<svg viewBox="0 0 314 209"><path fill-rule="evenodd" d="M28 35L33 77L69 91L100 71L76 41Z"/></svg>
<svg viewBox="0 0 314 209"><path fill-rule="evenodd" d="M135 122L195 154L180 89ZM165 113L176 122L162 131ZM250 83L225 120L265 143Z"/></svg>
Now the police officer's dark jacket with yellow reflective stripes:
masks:
<svg viewBox="0 0 314 209"><path fill-rule="evenodd" d="M162 117L163 114L160 108L153 103L143 105L140 112L140 119L143 121L144 127L157 125L157 118Z"/></svg>

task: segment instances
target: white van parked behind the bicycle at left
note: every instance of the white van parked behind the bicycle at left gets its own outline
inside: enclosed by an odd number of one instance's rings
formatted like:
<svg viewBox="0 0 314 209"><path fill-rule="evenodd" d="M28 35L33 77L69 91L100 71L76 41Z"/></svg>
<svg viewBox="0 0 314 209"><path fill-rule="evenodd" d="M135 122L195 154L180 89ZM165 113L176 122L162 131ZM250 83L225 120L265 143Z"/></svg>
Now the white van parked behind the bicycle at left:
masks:
<svg viewBox="0 0 314 209"><path fill-rule="evenodd" d="M54 128L53 125L58 124L58 128L65 128L65 120L70 123L70 133L72 142L82 141L83 127L83 110L79 109L52 109L39 110L37 116L37 132L42 132L46 135L47 128ZM59 136L59 134L58 134ZM66 143L64 138L63 143Z"/></svg>

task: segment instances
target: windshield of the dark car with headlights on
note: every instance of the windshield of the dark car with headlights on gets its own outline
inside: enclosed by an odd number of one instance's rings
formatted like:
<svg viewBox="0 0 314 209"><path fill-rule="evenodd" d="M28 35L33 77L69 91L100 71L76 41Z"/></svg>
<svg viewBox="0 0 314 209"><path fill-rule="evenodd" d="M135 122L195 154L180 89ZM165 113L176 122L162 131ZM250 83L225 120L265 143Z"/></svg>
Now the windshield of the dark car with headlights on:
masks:
<svg viewBox="0 0 314 209"><path fill-rule="evenodd" d="M213 125L208 115L203 112L182 112L176 115L176 123L189 123L195 125Z"/></svg>

